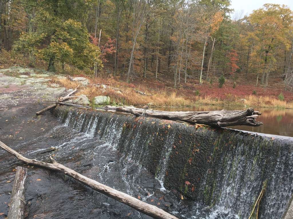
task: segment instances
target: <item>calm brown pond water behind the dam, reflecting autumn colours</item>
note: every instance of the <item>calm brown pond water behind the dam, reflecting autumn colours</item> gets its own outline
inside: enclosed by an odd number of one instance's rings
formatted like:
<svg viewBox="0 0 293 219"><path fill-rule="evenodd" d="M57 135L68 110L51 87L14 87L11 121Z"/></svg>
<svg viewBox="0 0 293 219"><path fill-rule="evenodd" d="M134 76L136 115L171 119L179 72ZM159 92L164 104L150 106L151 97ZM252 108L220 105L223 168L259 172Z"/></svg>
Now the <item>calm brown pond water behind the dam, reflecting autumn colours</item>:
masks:
<svg viewBox="0 0 293 219"><path fill-rule="evenodd" d="M272 135L283 135L293 137L293 109L276 109L276 108L263 108L253 107L255 111L260 111L261 116L258 117L258 121L263 122L262 126L231 126L229 128L259 132ZM235 106L212 106L204 105L197 107L180 107L180 108L164 108L156 107L152 108L156 110L164 111L212 111L212 110L244 110L247 107L235 107Z"/></svg>

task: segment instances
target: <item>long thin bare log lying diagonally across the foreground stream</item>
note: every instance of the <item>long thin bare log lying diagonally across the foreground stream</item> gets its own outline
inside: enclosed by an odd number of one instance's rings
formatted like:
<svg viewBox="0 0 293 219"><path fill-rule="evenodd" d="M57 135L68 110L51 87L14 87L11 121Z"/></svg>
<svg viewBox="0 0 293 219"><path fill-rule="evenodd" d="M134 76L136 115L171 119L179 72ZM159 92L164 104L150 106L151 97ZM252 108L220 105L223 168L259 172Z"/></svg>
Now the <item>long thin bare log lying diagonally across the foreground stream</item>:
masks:
<svg viewBox="0 0 293 219"><path fill-rule="evenodd" d="M128 194L125 194L123 192L117 191L111 187L108 187L106 185L103 185L101 183L98 183L95 180L92 180L90 178L85 177L84 175L81 175L80 173L75 172L72 169L67 168L66 166L63 166L62 164L57 163L52 157L50 157L52 164L50 163L45 163L42 161L38 161L35 159L28 159L26 157L23 157L21 154L16 152L15 150L11 149L4 143L0 141L0 147L10 154L13 154L17 159L27 163L27 164L32 164L40 167L44 167L50 170L55 170L59 171L61 173L64 173L65 175L68 175L75 180L81 182L82 184L92 188L93 190L96 190L98 192L101 192L105 194L108 197L111 197L117 201L120 201L137 211L140 211L146 215L151 216L152 218L157 218L157 219L178 219L175 216L167 213L166 211L163 211L162 209L154 206L147 204L143 201L140 201L139 199L136 199Z"/></svg>

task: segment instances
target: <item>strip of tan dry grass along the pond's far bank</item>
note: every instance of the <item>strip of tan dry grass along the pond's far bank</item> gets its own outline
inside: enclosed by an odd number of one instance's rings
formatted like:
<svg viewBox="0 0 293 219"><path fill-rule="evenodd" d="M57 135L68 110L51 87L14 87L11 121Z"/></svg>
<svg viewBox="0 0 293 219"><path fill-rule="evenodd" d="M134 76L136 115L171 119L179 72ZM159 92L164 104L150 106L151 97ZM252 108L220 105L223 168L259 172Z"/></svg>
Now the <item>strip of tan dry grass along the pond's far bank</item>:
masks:
<svg viewBox="0 0 293 219"><path fill-rule="evenodd" d="M80 87L79 92L76 95L87 95L89 100L92 100L95 96L103 95L109 96L111 99L110 104L123 104L142 106L151 103L153 106L166 106L166 107L183 107L194 105L235 105L235 106L248 106L248 107L277 107L277 108L293 108L292 102L286 102L267 96L248 95L241 100L241 98L226 95L225 100L219 100L210 96L188 96L184 97L179 95L176 91L168 91L167 88L151 90L147 86L139 84L134 86L124 81L119 81L110 78L88 78L90 85L86 87ZM66 88L76 88L77 82L70 81L68 79L58 79L52 77L52 82L60 84ZM111 87L119 88L120 92L110 88L101 88L93 86L92 84L106 84ZM135 92L135 89L145 92L149 95L141 95Z"/></svg>

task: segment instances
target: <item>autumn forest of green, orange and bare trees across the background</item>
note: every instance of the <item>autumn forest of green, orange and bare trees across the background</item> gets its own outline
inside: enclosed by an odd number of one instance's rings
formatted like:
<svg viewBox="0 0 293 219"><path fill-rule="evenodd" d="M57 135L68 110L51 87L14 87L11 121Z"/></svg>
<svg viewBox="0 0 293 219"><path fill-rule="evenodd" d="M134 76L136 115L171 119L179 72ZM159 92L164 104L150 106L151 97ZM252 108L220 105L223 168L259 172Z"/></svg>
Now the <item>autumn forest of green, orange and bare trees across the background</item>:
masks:
<svg viewBox="0 0 293 219"><path fill-rule="evenodd" d="M244 95L270 93L273 89L258 88L277 86L275 98L284 100L287 92L285 99L292 101L293 12L286 5L264 4L248 16L231 18L230 4L0 0L0 66L13 60L148 86L198 85L192 87L194 96L202 93L201 85L209 86L209 93L228 81L230 90L249 84Z"/></svg>

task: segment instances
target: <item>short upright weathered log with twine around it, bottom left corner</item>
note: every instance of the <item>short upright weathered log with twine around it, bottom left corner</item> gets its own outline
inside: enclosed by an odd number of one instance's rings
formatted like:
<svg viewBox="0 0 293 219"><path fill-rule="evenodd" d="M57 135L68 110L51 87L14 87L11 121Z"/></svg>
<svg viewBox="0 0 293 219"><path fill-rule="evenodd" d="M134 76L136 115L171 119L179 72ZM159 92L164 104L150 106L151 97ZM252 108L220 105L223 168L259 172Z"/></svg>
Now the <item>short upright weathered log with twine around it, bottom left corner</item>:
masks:
<svg viewBox="0 0 293 219"><path fill-rule="evenodd" d="M0 142L1 143L1 142ZM7 219L23 219L25 206L25 179L27 169L17 167Z"/></svg>

